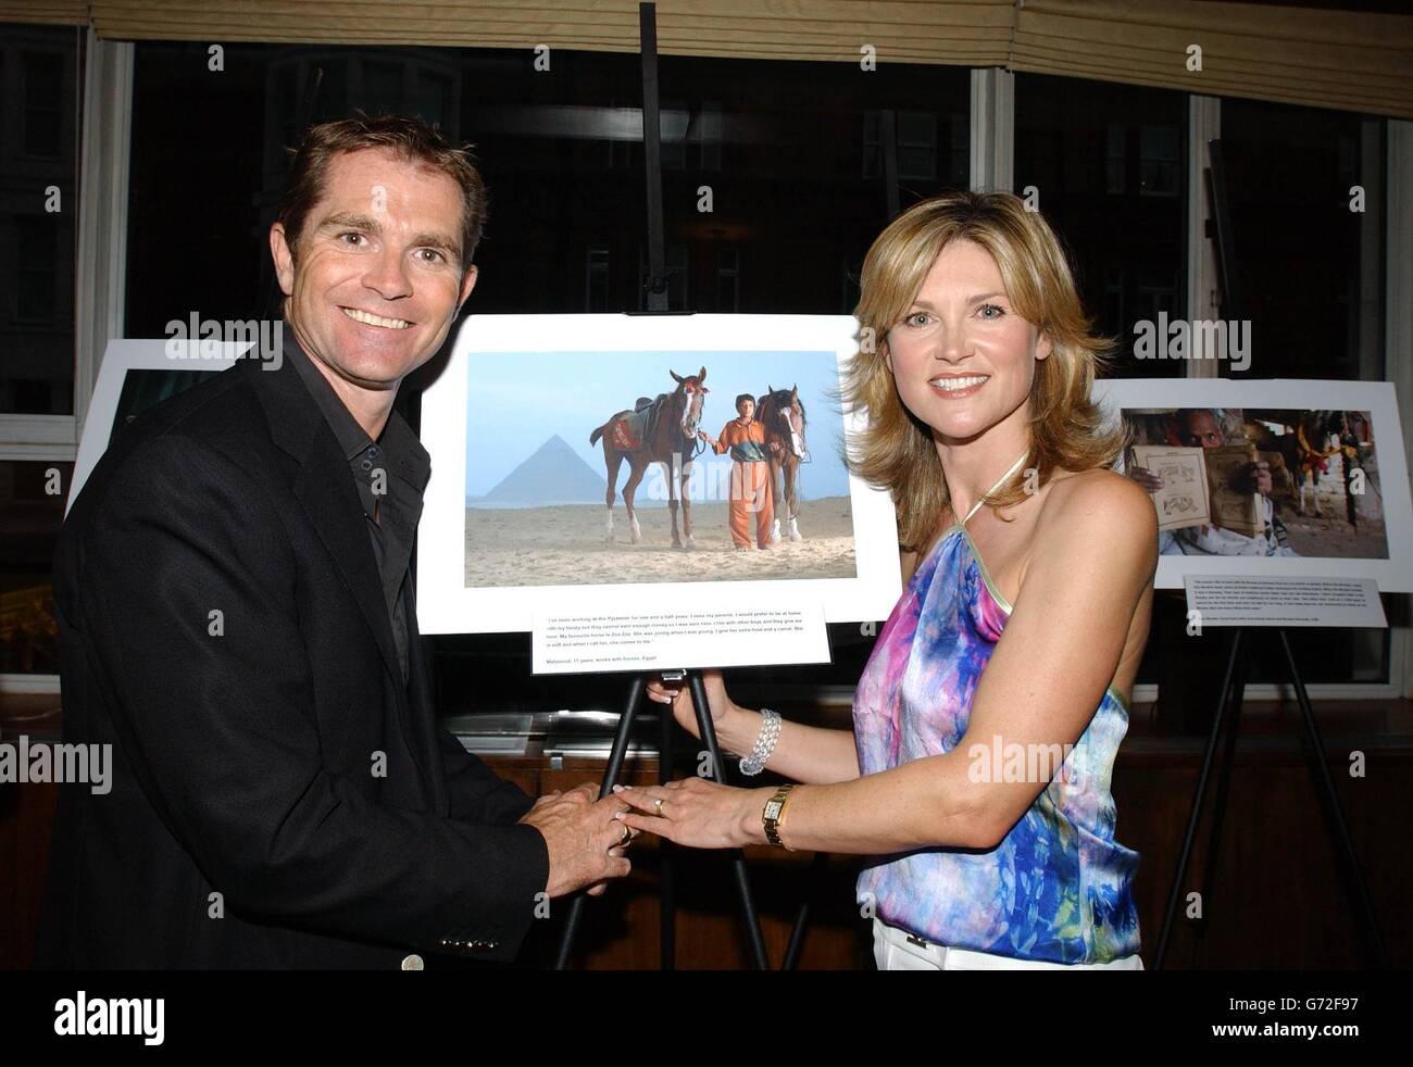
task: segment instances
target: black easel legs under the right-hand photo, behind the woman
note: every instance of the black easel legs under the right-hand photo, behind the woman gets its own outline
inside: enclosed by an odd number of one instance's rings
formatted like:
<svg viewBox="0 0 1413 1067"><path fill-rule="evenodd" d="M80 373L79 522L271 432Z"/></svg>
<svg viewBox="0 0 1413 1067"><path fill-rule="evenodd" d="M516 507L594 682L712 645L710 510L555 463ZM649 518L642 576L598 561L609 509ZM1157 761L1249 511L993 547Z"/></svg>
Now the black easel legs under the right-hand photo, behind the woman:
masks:
<svg viewBox="0 0 1413 1067"><path fill-rule="evenodd" d="M1283 629L1276 630L1276 636L1280 639L1280 647L1284 653L1286 666L1290 671L1290 683L1296 690L1296 700L1300 704L1300 717L1304 724L1306 741L1310 746L1310 763L1311 763L1311 782L1316 789L1317 797L1323 801L1325 814L1328 815L1334 834L1335 834L1335 849L1337 859L1347 878L1347 885L1352 889L1355 916L1359 926L1359 933L1364 938L1365 951L1373 967L1386 968L1388 957L1383 951L1383 938L1379 934L1379 926L1373 916L1373 903L1369 899L1369 888L1364 880L1364 872L1359 868L1359 861L1354 852L1354 842L1349 838L1349 827L1344 818L1344 808L1340 806L1340 797L1334 789L1334 780L1330 777L1330 766L1325 760L1324 742L1320 738L1320 728L1316 725L1314 711L1310 707L1310 694L1306 692L1306 685L1300 680L1300 670L1296 666L1296 656L1290 649L1290 639L1286 636ZM1157 971L1163 967L1163 958L1167 954L1169 936L1173 930L1173 917L1181 904L1183 885L1187 878L1187 862L1193 854L1193 842L1197 838L1197 825L1202 815L1202 803L1207 797L1207 787L1211 779L1212 760L1217 756L1217 743L1222 733L1222 725L1228 717L1228 708L1231 709L1231 729L1226 735L1226 745L1222 750L1222 766L1217 774L1217 807L1212 811L1212 830L1211 839L1208 842L1208 862L1207 875L1202 879L1202 900L1211 900L1211 889L1214 880L1214 872L1217 869L1217 855L1218 844L1221 841L1222 821L1226 815L1226 791L1231 786L1232 765L1235 762L1236 753L1236 731L1241 725L1241 709L1242 700L1246 692L1246 663L1248 657L1242 654L1243 646L1248 643L1249 635L1245 627L1236 627L1232 635L1231 654L1226 657L1226 674L1222 681L1221 694L1217 697L1217 714L1212 718L1212 731L1207 738L1207 750L1202 755L1202 769L1197 777L1197 793L1193 797L1193 810L1187 820L1187 835L1183 838L1183 854L1177 861L1177 873L1173 876L1173 889L1167 897L1167 912L1163 916L1163 933L1159 937L1157 954L1153 958L1153 969Z"/></svg>

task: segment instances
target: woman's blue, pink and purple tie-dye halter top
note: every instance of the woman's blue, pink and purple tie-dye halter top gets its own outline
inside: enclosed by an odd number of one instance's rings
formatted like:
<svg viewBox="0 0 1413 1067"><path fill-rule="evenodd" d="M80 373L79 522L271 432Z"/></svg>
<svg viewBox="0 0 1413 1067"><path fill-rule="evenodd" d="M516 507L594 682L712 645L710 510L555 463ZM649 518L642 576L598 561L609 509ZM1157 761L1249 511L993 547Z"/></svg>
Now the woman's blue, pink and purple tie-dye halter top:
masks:
<svg viewBox="0 0 1413 1067"><path fill-rule="evenodd" d="M863 774L961 742L1009 615L971 534L954 526L903 591L859 681L853 732ZM1058 964L1136 953L1139 856L1113 839L1109 794L1126 731L1128 709L1109 688L1060 772L999 845L880 858L859 876L859 902L886 923L958 948ZM1005 777L1009 759L986 756L993 777L1015 780Z"/></svg>

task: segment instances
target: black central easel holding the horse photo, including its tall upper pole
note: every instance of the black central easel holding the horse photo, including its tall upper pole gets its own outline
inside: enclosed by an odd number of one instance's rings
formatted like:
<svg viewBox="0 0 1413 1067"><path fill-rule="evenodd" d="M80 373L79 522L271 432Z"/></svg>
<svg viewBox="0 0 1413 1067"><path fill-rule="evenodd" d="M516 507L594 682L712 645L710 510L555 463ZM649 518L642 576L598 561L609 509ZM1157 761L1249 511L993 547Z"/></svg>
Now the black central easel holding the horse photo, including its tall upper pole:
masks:
<svg viewBox="0 0 1413 1067"><path fill-rule="evenodd" d="M657 6L640 3L639 35L643 57L643 163L647 170L647 273L643 285L643 302L647 314L667 314L667 256L663 237L663 163L661 163L661 120L658 112L657 86ZM692 702L697 707L697 726L701 739L711 755L711 777L714 782L725 783L726 765L721 759L721 748L716 745L716 728L712 724L711 709L706 704L706 688L702 685L697 671L677 670L663 671L663 677L671 681L682 681L691 687ZM609 765L603 772L603 783L599 786L599 797L606 797L617 782L623 770L623 757L627 753L629 736L633 731L633 719L637 717L637 705L643 698L643 676L634 674L629 683L627 702L619 717L617 732L613 736L613 749L609 753ZM657 756L657 780L664 783L671 773L673 765L673 728L677 724L666 711L661 712L661 741ZM661 886L660 886L660 924L661 924L661 967L671 969L675 955L675 916L677 893L675 872L671 856L671 842L661 842ZM769 971L770 958L766 954L766 941L760 931L760 919L756 914L755 900L750 895L750 879L746 873L746 859L742 851L732 851L732 866L736 875L736 890L740 895L742 916L746 920L746 937L750 943L750 953L756 969ZM569 919L565 924L564 940L560 943L560 954L555 958L555 969L565 969L569 965L569 955L574 951L574 938L584 916L584 893L577 893L569 903ZM801 912L801 921L804 919ZM796 934L791 936L791 947L797 945L801 930L797 923ZM796 950L797 951L797 950ZM787 960L791 958L787 954Z"/></svg>

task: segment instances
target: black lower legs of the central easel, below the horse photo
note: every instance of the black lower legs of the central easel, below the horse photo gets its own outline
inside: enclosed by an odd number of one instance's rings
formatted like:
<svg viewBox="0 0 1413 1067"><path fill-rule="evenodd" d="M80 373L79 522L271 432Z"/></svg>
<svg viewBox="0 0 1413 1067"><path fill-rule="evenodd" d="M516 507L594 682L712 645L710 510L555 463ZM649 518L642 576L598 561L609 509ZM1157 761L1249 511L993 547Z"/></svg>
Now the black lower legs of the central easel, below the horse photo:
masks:
<svg viewBox="0 0 1413 1067"><path fill-rule="evenodd" d="M692 704L697 707L697 728L701 731L702 742L706 745L706 752L711 755L711 777L714 782L721 782L725 784L725 769L726 765L721 759L721 748L716 745L716 728L712 724L711 708L706 704L706 687L702 685L701 676L697 671L663 671L663 678L667 681L682 681L691 687ZM629 683L627 690L627 704L623 708L623 714L619 717L617 731L613 735L613 749L609 753L609 765L603 772L603 783L599 786L599 798L609 796L613 791L613 786L617 783L619 774L623 772L623 757L627 753L629 738L633 733L633 719L637 717L637 707L643 700L643 676L634 674L632 683ZM668 711L661 712L663 717L663 735L667 738L671 728L675 725L673 717ZM671 773L671 759L670 748L663 745L658 752L658 769L657 780L664 783ZM663 842L664 849L668 842ZM766 940L760 933L760 917L756 914L756 904L750 896L750 879L746 873L746 858L745 854L736 848L731 851L731 862L736 875L736 892L740 895L740 912L746 923L746 937L750 941L750 954L755 961L757 971L769 971L770 960L766 955ZM673 967L673 920L675 916L675 892L671 875L671 861L668 856L663 856L663 895L661 895L661 914L663 914L663 940L661 940L661 958L663 969L671 969ZM574 951L574 938L579 929L579 920L584 913L584 893L577 893L574 900L569 903L569 920L564 930L564 941L560 944L560 955L555 960L555 969L562 971L569 964L569 955ZM798 931L797 931L798 936ZM796 937L797 937L796 936ZM791 944L794 944L796 937L791 937Z"/></svg>

